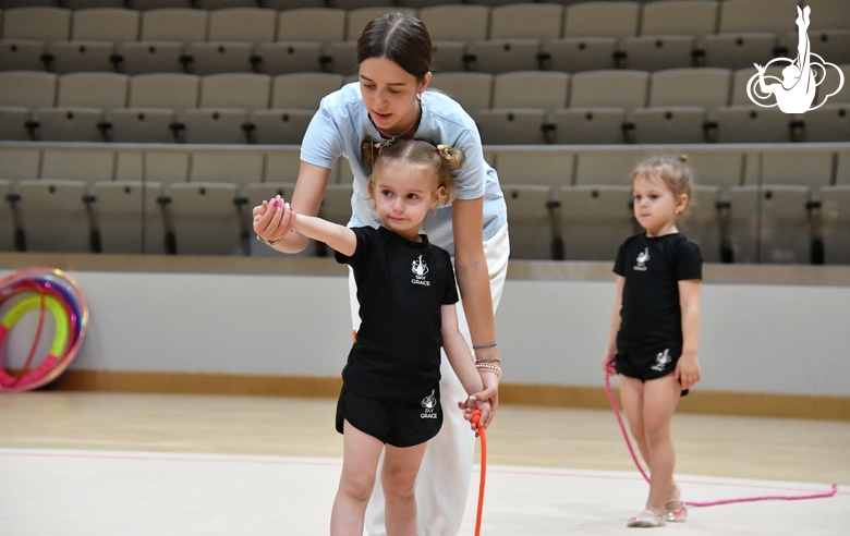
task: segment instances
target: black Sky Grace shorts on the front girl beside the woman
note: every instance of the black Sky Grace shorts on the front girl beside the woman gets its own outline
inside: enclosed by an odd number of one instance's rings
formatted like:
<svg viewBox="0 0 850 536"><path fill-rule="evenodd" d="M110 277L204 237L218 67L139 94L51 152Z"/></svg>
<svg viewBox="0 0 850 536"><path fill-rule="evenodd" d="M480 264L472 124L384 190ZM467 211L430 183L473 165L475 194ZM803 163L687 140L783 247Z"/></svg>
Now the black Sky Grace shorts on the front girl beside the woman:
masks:
<svg viewBox="0 0 850 536"><path fill-rule="evenodd" d="M373 400L349 391L343 385L337 402L337 431L340 434L343 421L392 447L424 443L442 427L440 387L435 383L403 399Z"/></svg>

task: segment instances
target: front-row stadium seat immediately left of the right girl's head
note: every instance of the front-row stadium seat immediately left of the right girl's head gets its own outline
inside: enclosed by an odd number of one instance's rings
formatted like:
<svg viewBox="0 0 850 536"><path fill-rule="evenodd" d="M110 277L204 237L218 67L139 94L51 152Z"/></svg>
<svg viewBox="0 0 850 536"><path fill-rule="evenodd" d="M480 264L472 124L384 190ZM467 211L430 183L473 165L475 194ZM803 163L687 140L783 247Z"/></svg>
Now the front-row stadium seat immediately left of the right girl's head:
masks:
<svg viewBox="0 0 850 536"><path fill-rule="evenodd" d="M606 260L634 234L632 187L576 185L558 190L560 234L567 260Z"/></svg>

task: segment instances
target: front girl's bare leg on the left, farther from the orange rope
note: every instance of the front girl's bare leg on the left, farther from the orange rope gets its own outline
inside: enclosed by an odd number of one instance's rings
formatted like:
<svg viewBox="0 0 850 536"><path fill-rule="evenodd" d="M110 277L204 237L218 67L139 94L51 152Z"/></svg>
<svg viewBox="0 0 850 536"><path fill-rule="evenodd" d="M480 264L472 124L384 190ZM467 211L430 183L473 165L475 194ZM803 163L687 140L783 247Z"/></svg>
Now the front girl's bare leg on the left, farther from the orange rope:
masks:
<svg viewBox="0 0 850 536"><path fill-rule="evenodd" d="M345 421L342 475L330 514L331 536L362 536L366 503L375 486L375 472L384 443ZM415 534L415 533L414 533Z"/></svg>

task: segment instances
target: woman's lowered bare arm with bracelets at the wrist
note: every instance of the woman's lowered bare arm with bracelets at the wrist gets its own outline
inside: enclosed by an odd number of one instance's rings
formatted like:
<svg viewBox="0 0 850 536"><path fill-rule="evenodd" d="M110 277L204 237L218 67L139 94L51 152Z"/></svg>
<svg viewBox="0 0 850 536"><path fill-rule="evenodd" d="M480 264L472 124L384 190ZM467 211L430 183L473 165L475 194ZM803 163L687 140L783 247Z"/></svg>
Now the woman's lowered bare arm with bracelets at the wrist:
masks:
<svg viewBox="0 0 850 536"><path fill-rule="evenodd" d="M451 205L451 221L454 233L454 271L463 299L463 310L470 326L472 344L487 344L496 341L496 326L490 294L490 275L484 255L484 199L454 199ZM497 346L475 351L478 360L498 360ZM493 410L498 405L499 379L495 374L485 377L487 398Z"/></svg>

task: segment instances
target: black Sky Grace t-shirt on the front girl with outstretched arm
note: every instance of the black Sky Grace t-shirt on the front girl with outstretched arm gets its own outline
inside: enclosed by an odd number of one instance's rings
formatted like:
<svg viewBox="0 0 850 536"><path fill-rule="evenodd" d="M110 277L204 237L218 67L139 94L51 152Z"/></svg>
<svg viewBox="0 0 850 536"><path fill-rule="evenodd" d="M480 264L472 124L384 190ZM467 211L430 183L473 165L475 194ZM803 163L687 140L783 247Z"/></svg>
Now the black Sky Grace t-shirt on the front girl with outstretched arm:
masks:
<svg viewBox="0 0 850 536"><path fill-rule="evenodd" d="M425 235L411 242L382 227L352 230L354 255L336 254L354 270L360 303L345 389L374 400L420 392L440 379L440 308L458 302L451 257Z"/></svg>

